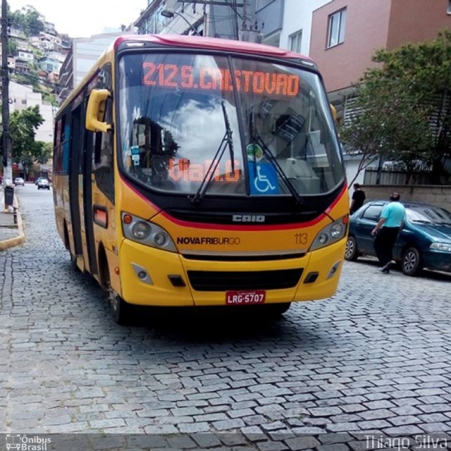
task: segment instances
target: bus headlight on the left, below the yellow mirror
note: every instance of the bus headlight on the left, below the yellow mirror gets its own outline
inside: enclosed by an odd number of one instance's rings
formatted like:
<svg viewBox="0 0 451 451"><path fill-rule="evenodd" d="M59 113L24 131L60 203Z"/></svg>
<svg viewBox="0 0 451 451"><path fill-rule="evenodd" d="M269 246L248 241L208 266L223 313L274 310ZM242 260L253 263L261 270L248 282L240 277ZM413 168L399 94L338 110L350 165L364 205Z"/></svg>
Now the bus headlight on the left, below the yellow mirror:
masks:
<svg viewBox="0 0 451 451"><path fill-rule="evenodd" d="M121 218L123 234L128 240L169 252L177 252L173 240L160 226L125 212L121 214Z"/></svg>

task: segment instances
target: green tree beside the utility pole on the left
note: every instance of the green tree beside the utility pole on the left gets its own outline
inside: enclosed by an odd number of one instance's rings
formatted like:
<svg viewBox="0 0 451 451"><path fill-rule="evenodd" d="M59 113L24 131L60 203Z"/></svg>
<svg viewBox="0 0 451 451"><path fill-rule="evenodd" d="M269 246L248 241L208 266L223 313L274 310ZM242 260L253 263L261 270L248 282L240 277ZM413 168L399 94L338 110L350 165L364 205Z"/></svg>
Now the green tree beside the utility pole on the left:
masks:
<svg viewBox="0 0 451 451"><path fill-rule="evenodd" d="M44 143L35 141L36 130L42 123L44 118L37 105L13 111L10 116L13 161L22 163L26 179L33 162L44 153Z"/></svg>

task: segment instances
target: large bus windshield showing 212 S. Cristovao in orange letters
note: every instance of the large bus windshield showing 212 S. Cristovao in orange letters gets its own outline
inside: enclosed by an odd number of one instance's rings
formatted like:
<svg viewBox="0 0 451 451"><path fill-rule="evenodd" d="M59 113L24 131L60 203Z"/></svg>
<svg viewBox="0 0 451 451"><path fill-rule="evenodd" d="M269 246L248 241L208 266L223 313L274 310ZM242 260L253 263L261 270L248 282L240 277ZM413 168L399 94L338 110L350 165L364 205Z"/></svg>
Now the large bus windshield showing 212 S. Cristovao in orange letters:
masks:
<svg viewBox="0 0 451 451"><path fill-rule="evenodd" d="M237 56L126 54L121 170L179 194L290 195L344 177L328 101L308 70Z"/></svg>

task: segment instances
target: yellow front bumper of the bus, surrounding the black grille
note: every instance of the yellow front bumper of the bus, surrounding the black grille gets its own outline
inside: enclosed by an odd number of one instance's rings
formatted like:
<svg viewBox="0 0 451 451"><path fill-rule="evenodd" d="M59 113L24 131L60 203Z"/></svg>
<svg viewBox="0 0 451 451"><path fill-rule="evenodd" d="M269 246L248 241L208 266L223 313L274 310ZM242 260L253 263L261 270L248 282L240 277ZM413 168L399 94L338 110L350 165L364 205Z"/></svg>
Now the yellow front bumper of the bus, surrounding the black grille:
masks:
<svg viewBox="0 0 451 451"><path fill-rule="evenodd" d="M299 282L290 288L265 290L265 303L297 302L323 299L335 294L342 268L346 240L308 252L304 257L268 261L205 261L186 259L181 254L165 252L124 240L120 252L121 296L125 302L167 307L226 305L226 292L194 289L192 273L209 278L247 272L302 270ZM300 271L299 271L300 272ZM277 272L276 272L277 273Z"/></svg>

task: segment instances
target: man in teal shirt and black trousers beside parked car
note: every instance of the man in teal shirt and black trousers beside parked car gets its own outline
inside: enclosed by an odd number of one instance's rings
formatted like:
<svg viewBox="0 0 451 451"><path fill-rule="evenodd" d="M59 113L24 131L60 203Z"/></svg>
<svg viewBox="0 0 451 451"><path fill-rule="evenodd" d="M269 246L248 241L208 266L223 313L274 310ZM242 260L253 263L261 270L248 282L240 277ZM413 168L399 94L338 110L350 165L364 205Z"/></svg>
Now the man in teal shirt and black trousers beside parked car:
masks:
<svg viewBox="0 0 451 451"><path fill-rule="evenodd" d="M400 202L400 194L393 192L390 194L390 202L383 207L376 227L371 231L371 235L376 235L374 250L382 265L379 271L383 273L390 273L390 267L396 263L393 260L393 247L405 216L406 209Z"/></svg>

